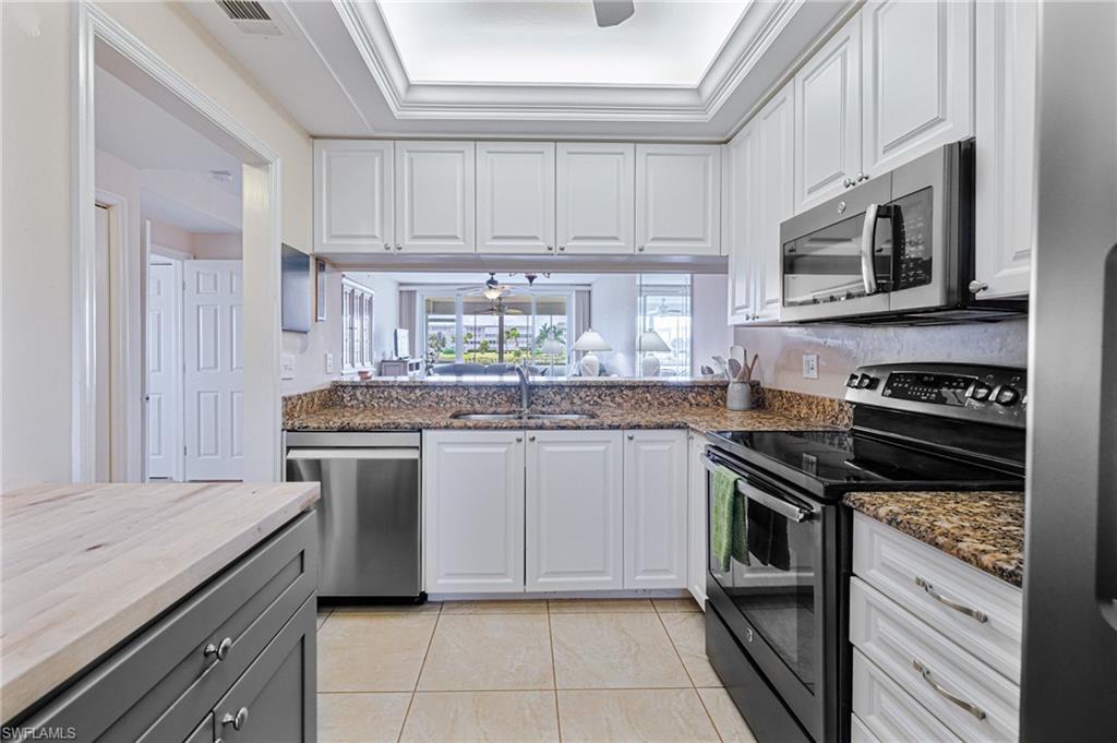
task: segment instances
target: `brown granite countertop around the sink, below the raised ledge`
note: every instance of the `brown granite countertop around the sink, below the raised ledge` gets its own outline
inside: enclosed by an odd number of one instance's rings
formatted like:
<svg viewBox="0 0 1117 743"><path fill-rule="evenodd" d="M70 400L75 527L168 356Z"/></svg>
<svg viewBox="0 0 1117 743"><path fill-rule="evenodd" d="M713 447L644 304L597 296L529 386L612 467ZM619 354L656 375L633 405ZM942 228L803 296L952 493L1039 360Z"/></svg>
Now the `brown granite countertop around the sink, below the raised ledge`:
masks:
<svg viewBox="0 0 1117 743"><path fill-rule="evenodd" d="M478 407L484 412L507 410ZM422 429L636 429L685 428L699 434L717 430L819 430L833 428L811 420L793 418L770 410L733 411L724 407L670 406L647 409L598 408L561 412L593 412L595 418L577 420L456 420L447 408L357 408L325 407L300 412L287 421L290 431L390 431ZM533 412L547 412L533 409Z"/></svg>

